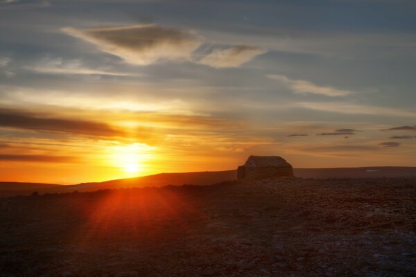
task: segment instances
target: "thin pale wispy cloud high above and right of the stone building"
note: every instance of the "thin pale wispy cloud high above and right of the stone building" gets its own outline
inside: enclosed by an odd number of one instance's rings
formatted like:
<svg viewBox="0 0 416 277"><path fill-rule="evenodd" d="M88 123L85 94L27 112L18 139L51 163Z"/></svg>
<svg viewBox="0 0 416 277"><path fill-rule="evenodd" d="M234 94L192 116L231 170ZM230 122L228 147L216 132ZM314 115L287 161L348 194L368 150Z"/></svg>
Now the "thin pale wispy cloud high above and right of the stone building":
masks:
<svg viewBox="0 0 416 277"><path fill-rule="evenodd" d="M312 82L306 80L289 79L284 75L269 74L267 75L267 77L272 80L277 80L283 84L286 84L286 86L288 86L294 93L312 93L330 97L347 96L353 93L352 91L336 89L333 87L322 87L318 84L313 84Z"/></svg>

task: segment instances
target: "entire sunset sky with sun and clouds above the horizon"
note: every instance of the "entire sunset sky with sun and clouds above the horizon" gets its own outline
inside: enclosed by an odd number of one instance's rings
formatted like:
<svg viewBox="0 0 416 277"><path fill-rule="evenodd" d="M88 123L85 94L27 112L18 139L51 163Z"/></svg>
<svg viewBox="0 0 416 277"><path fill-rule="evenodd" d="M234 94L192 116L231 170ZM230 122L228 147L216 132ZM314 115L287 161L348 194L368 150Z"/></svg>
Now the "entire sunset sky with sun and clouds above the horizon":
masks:
<svg viewBox="0 0 416 277"><path fill-rule="evenodd" d="M0 0L0 180L416 166L413 0Z"/></svg>

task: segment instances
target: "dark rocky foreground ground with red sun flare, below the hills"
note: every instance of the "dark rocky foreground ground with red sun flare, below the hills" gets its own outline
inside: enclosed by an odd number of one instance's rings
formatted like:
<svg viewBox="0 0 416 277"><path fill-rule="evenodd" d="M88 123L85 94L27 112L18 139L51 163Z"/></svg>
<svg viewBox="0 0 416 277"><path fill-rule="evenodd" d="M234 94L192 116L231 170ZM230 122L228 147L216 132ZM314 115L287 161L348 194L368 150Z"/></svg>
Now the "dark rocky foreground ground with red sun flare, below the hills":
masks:
<svg viewBox="0 0 416 277"><path fill-rule="evenodd" d="M0 276L416 276L416 179L0 199Z"/></svg>

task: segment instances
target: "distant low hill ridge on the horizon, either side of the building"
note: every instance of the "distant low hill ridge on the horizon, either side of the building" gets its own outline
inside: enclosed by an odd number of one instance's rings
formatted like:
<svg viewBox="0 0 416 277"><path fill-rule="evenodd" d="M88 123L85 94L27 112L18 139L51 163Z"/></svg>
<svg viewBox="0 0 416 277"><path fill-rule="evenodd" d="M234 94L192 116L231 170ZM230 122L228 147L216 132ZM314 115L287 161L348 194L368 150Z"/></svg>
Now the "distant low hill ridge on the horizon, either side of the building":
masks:
<svg viewBox="0 0 416 277"><path fill-rule="evenodd" d="M374 177L416 177L412 167L365 167L365 168L294 168L295 177L302 178L374 178ZM180 186L192 184L205 186L236 179L236 170L216 172L161 173L144 177L117 179L111 181L56 185L38 183L0 182L0 197L30 195L34 191L44 193L71 193L105 190L112 188L144 188L146 186Z"/></svg>

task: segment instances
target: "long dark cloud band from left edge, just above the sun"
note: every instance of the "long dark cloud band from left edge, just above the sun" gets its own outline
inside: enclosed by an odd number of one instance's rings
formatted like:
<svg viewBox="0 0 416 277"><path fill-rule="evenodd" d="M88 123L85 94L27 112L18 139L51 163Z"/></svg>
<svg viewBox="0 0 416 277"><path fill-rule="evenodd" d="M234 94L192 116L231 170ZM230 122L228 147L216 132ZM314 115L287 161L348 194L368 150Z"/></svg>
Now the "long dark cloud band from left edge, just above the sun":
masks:
<svg viewBox="0 0 416 277"><path fill-rule="evenodd" d="M25 111L0 109L0 127L31 129L44 132L80 134L86 136L123 136L121 130L94 121L51 118Z"/></svg>

